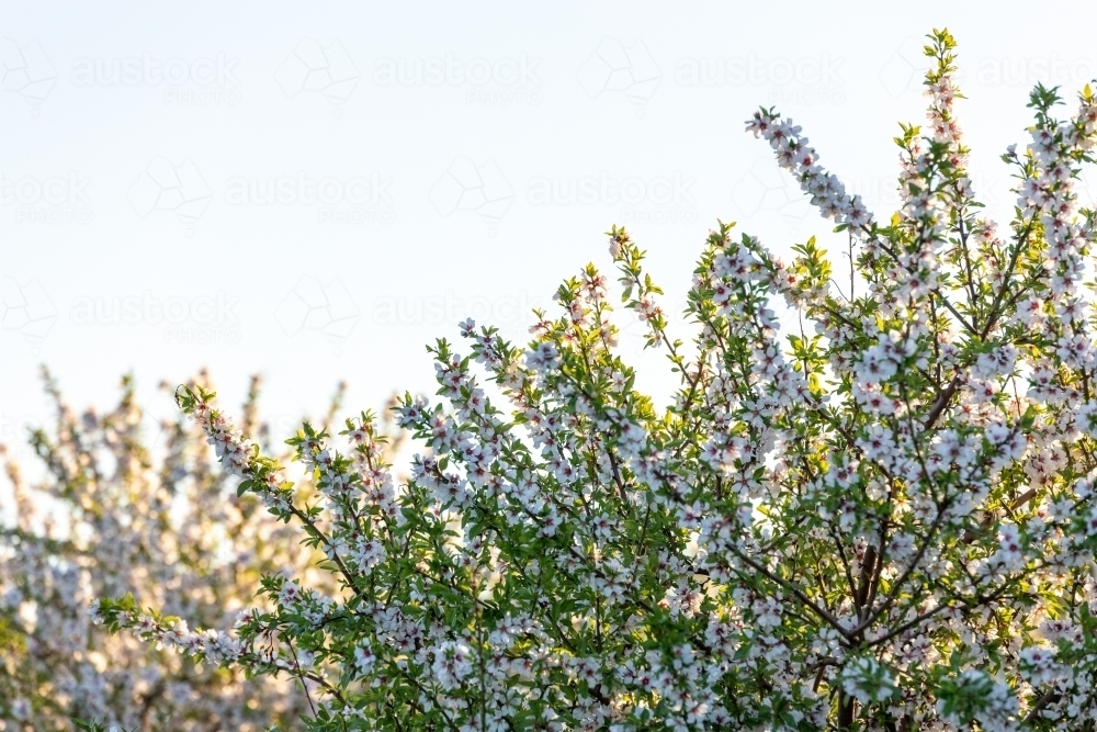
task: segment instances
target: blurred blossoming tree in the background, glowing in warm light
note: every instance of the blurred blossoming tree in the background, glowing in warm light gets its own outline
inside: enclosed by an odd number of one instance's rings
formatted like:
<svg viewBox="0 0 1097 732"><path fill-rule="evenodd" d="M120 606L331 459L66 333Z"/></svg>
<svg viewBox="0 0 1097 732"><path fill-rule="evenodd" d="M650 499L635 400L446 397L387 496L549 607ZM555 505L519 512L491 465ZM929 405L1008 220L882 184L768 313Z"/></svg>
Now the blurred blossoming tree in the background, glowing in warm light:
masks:
<svg viewBox="0 0 1097 732"><path fill-rule="evenodd" d="M143 731L292 727L308 711L299 685L150 654L95 628L88 603L132 593L219 626L255 603L264 573L325 586L315 558L255 497L228 499L230 476L196 426L169 421L154 440L128 379L116 407L80 416L45 379L57 419L31 438L41 470L29 481L4 460L15 523L0 527L0 730L70 730L73 717ZM244 424L265 433L257 396L253 381Z"/></svg>

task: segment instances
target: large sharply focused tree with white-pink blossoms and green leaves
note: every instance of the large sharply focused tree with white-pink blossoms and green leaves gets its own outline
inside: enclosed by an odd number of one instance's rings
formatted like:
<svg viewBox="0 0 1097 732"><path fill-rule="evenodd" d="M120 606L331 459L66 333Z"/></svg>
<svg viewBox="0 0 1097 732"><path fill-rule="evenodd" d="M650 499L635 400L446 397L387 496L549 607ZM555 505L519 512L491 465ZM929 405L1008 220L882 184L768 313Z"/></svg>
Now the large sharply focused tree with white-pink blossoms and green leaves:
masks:
<svg viewBox="0 0 1097 732"><path fill-rule="evenodd" d="M790 120L747 124L848 236L848 280L814 239L785 264L721 224L686 345L610 233L623 302L680 379L669 407L635 390L592 266L529 347L466 322L466 352L430 349L440 398L398 408L429 448L406 483L363 415L290 440L318 488L302 495L182 387L240 492L299 527L339 592L271 574L274 609L201 632L133 598L95 612L310 679L313 730L1093 730L1097 235L1074 184L1097 100L1060 119L1055 90L1032 92L999 227L966 172L953 40L926 50L929 124L896 139L890 216ZM803 324L784 337L776 300Z"/></svg>

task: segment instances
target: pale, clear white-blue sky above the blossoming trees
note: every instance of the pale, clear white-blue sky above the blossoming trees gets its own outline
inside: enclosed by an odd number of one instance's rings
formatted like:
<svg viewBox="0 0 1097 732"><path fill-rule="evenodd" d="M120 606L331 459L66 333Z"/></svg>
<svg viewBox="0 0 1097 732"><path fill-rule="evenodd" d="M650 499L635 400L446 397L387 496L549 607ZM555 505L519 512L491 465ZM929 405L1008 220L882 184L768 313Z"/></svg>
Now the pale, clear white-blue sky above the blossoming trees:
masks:
<svg viewBox="0 0 1097 732"><path fill-rule="evenodd" d="M0 441L16 450L49 419L42 363L77 408L133 372L156 415L161 380L206 367L235 408L260 373L291 432L341 380L351 410L433 392L423 346L465 317L524 341L564 278L609 270L612 224L675 313L717 218L777 251L840 243L744 121L791 116L886 218L935 26L960 44L976 191L1008 218L998 156L1027 142L1029 90L1073 100L1097 76L1092 1L43 1L0 19ZM661 358L619 323L640 384L666 395Z"/></svg>

